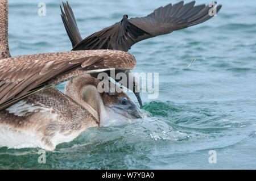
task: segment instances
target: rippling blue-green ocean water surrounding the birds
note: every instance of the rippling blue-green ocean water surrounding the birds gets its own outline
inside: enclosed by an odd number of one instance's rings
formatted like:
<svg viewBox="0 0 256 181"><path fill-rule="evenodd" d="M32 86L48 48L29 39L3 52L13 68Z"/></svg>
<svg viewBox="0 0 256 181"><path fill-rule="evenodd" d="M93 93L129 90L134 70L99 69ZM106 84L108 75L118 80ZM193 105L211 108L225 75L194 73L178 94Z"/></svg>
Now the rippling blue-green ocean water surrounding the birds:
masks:
<svg viewBox="0 0 256 181"><path fill-rule="evenodd" d="M38 16L39 2L46 3L46 16ZM178 1L69 4L86 37L123 14L145 16L170 2ZM60 3L10 0L12 56L72 48ZM222 9L207 22L141 41L129 51L137 59L133 72L159 73L158 98L142 94L146 119L90 128L46 151L45 164L38 163L40 149L0 148L0 169L256 169L256 1L218 3ZM64 84L58 88L63 91ZM210 150L216 163L209 163Z"/></svg>

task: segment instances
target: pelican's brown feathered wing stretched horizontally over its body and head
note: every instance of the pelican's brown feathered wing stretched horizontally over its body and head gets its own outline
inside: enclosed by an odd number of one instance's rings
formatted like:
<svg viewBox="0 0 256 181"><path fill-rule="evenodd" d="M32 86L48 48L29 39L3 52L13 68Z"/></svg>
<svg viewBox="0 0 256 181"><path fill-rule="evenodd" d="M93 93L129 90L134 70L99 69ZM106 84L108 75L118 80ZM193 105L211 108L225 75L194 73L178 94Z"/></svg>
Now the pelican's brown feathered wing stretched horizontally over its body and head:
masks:
<svg viewBox="0 0 256 181"><path fill-rule="evenodd" d="M130 70L135 58L119 50L40 53L0 60L0 110L35 92L86 73Z"/></svg>

